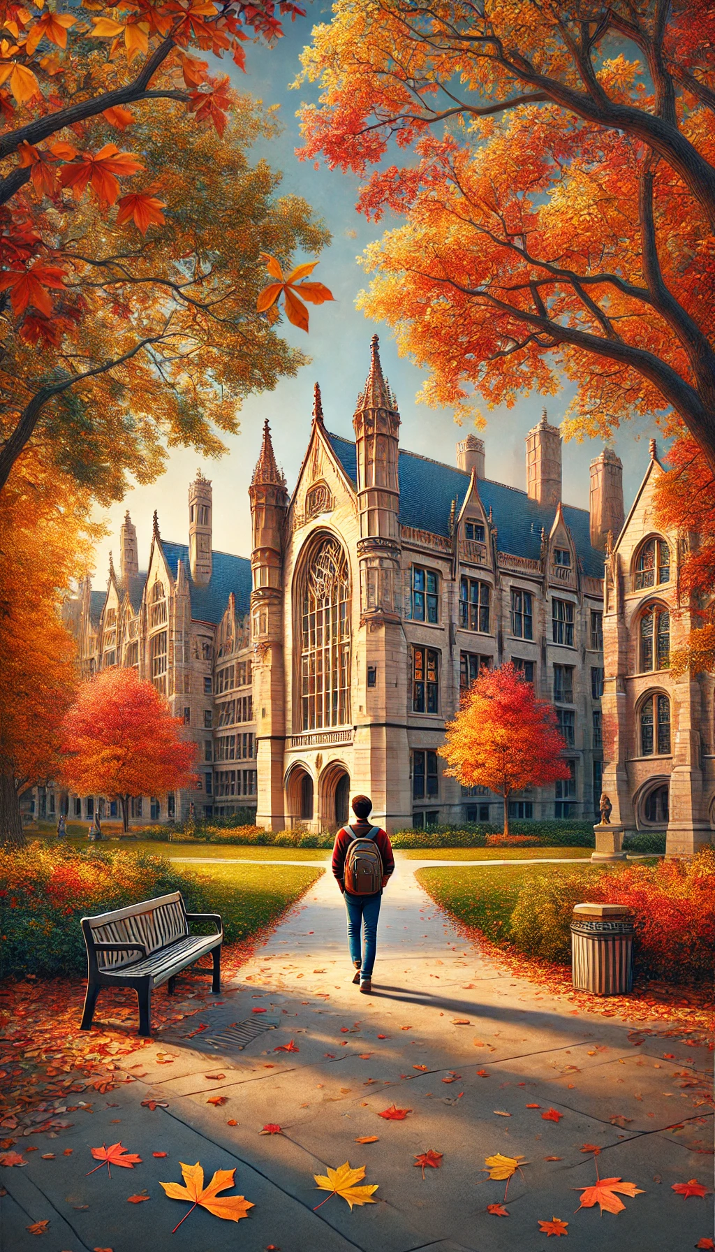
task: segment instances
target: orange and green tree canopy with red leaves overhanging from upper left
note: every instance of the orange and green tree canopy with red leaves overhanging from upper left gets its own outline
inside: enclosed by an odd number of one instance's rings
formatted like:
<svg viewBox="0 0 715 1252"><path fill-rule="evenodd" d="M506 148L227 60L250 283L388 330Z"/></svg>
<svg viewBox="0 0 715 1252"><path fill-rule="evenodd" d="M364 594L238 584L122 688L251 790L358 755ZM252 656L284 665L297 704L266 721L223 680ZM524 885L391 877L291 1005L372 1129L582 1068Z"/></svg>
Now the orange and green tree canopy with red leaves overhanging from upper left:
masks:
<svg viewBox="0 0 715 1252"><path fill-rule="evenodd" d="M250 392L303 363L257 310L260 250L327 232L245 148L270 110L243 64L288 0L0 0L0 488L30 443L100 498L160 472L163 444L222 451ZM126 138L125 138L126 133ZM76 454L81 443L81 456ZM104 493L104 497L103 497Z"/></svg>

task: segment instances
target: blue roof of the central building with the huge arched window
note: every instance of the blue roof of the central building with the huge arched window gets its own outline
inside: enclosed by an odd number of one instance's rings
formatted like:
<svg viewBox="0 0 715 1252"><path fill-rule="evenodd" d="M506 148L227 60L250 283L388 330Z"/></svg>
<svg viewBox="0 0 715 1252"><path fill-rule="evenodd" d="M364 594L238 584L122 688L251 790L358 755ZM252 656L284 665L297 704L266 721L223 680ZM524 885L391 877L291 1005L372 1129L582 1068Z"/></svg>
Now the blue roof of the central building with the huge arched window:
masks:
<svg viewBox="0 0 715 1252"><path fill-rule="evenodd" d="M351 439L339 434L328 434L332 448L352 482L357 482L357 453ZM414 526L417 530L431 531L433 535L450 533L450 512L456 500L456 513L465 502L470 476L455 466L431 461L416 452L401 448L398 459L399 477L399 521L402 526ZM538 561L541 555L541 528L548 535L553 525L553 508L537 505L525 491L507 487L491 478L478 478L480 498L487 513L497 527L497 542L501 552L512 552ZM589 512L563 505L566 522L576 552L581 560L584 573L595 578L604 577L604 553L591 547Z"/></svg>

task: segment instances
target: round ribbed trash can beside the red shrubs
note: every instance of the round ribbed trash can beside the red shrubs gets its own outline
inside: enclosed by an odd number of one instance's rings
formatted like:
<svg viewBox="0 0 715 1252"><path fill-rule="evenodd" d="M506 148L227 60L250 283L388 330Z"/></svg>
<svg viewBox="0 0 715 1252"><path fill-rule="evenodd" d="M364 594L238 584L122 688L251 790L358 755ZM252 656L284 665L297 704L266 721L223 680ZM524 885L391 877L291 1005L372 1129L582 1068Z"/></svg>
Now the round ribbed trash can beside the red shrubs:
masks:
<svg viewBox="0 0 715 1252"><path fill-rule="evenodd" d="M624 995L634 985L634 921L624 904L576 904L571 972L579 992Z"/></svg>

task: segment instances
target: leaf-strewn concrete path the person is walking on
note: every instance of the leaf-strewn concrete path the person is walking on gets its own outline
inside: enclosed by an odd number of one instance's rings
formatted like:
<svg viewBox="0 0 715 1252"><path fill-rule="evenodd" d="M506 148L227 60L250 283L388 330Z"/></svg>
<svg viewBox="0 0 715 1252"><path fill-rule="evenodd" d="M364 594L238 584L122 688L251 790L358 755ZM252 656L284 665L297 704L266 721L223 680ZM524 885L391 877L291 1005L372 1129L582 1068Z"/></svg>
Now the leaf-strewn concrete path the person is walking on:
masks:
<svg viewBox="0 0 715 1252"><path fill-rule="evenodd" d="M712 1236L711 1196L684 1199L671 1189L691 1178L710 1184L711 1055L577 1014L495 967L418 888L418 864L402 861L386 891L371 997L349 980L344 909L328 871L218 1007L207 1002L124 1058L131 1083L98 1097L90 1116L73 1114L60 1138L34 1136L40 1151L26 1168L0 1172L8 1189L1 1252L145 1244L155 1252L542 1252L550 1239L538 1221L552 1217L568 1222L572 1252L609 1244L676 1252ZM195 985L190 975L178 984L188 1012ZM100 998L99 1027L101 1009ZM212 1044L245 1022L268 1028L243 1050ZM291 1040L298 1050L274 1050ZM225 1103L208 1103L217 1096ZM150 1097L167 1107L141 1107ZM392 1104L409 1109L403 1121L378 1116ZM269 1123L282 1133L259 1134ZM364 1136L378 1139L356 1143ZM141 1164L113 1168L111 1179L106 1168L85 1177L98 1163L90 1147L118 1139ZM596 1158L585 1144L600 1149ZM442 1166L422 1178L413 1162L428 1149L443 1154ZM55 1159L43 1161L48 1152ZM505 1183L482 1172L495 1153L525 1159L510 1182L508 1217L487 1211L505 1196ZM172 1234L189 1206L168 1199L159 1181L180 1182L179 1161L200 1161L207 1182L214 1169L235 1168L229 1194L254 1203L249 1217L237 1227L197 1208ZM332 1196L314 1212L327 1192L316 1189L313 1174L346 1161L366 1166L364 1182L379 1184L376 1203L351 1212ZM644 1193L622 1197L617 1214L576 1213L579 1188L596 1182L596 1164L601 1177ZM126 1202L143 1189L148 1203ZM38 1243L26 1226L44 1218L50 1226Z"/></svg>

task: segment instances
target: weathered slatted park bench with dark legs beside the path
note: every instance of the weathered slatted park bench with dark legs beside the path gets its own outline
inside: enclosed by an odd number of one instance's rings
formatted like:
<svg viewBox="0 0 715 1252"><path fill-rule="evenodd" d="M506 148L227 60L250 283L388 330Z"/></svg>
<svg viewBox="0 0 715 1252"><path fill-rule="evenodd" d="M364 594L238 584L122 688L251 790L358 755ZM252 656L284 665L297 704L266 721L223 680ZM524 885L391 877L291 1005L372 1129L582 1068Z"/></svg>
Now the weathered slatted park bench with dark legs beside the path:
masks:
<svg viewBox="0 0 715 1252"><path fill-rule="evenodd" d="M189 921L213 921L217 930L192 935ZM222 919L218 913L187 913L180 891L83 918L81 929L88 965L81 1030L91 1029L103 987L131 987L139 1000L139 1034L150 1034L153 989L168 983L173 995L177 974L208 953L213 953L212 992L220 993Z"/></svg>

